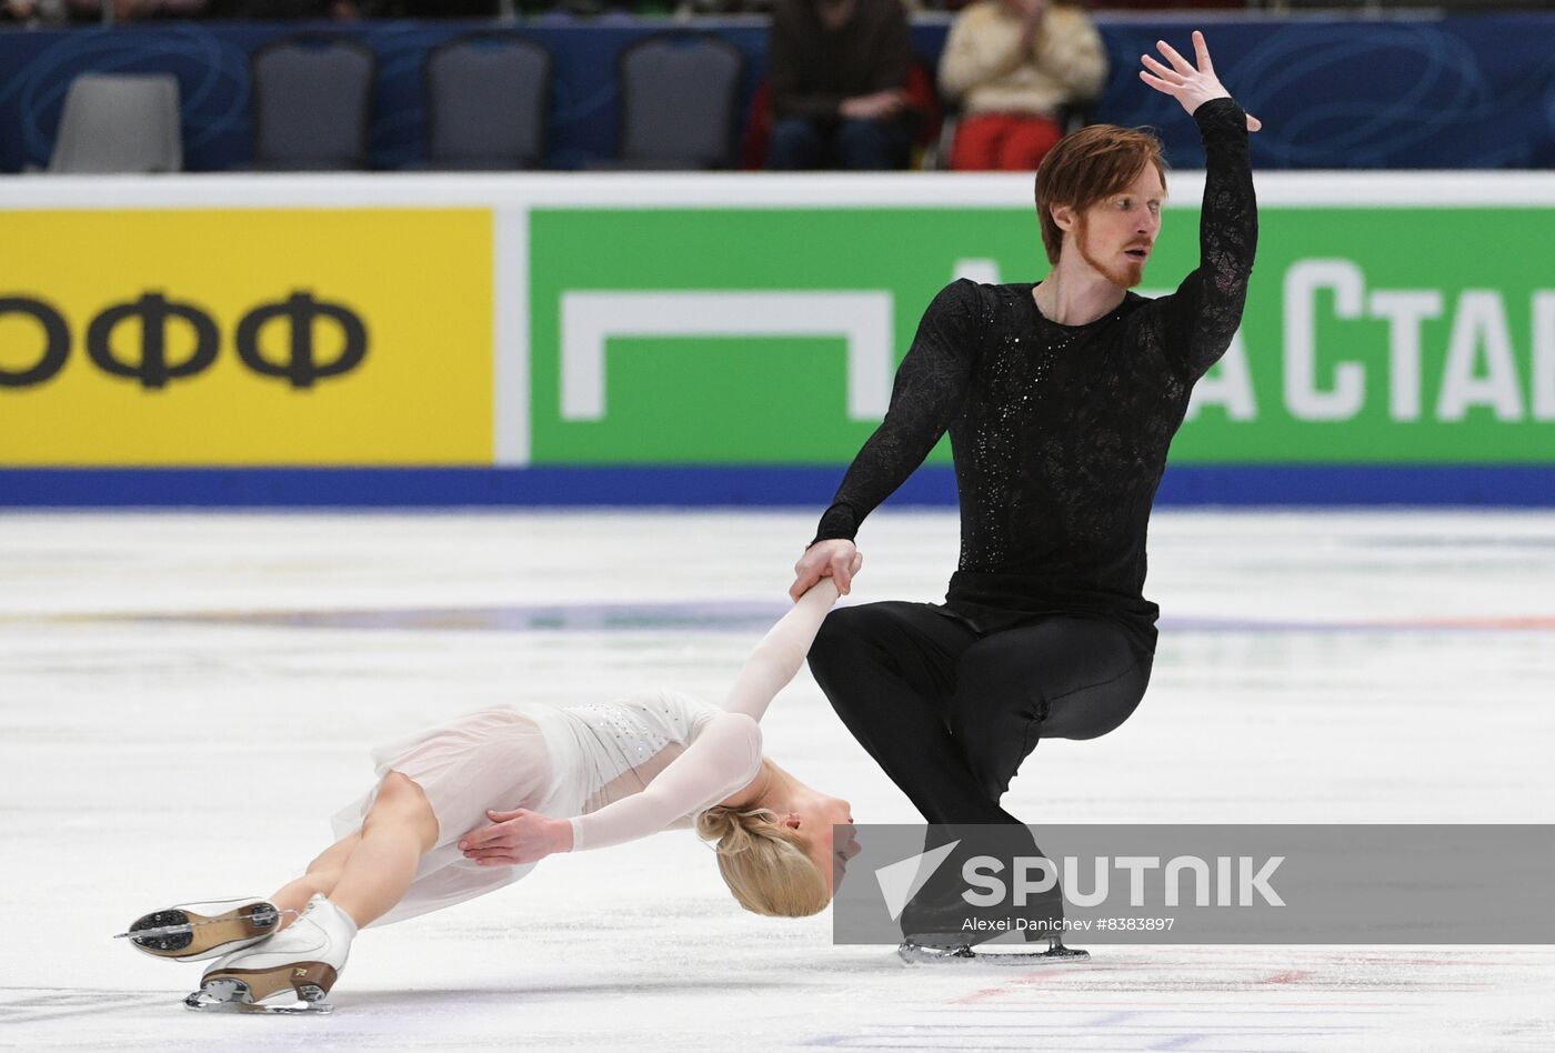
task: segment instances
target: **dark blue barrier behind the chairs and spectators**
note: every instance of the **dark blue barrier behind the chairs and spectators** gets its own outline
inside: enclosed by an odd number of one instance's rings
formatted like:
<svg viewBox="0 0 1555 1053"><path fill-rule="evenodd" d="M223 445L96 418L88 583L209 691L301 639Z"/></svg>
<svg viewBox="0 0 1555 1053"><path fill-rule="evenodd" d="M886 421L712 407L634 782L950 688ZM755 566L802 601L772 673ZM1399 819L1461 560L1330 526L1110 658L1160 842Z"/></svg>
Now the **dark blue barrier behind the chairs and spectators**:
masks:
<svg viewBox="0 0 1555 1053"><path fill-rule="evenodd" d="M1191 19L1191 20L1190 20ZM1260 171L1365 168L1555 168L1555 14L1345 19L1101 12L1112 70L1093 106L1096 121L1152 124L1179 170L1200 168L1197 131L1168 96L1144 89L1140 54L1166 37L1186 47L1208 36L1221 78L1263 118L1252 140ZM227 171L252 157L249 62L266 44L300 31L358 40L378 56L370 163L415 166L426 159L428 53L451 37L499 30L555 56L546 121L546 168L614 157L620 128L616 61L642 37L715 33L746 56L743 128L767 67L760 19L541 17L512 26L482 22L162 22L73 30L0 28L0 171L45 166L70 81L86 72L173 73L179 79L183 157L190 171ZM913 22L913 50L933 68L949 20Z"/></svg>

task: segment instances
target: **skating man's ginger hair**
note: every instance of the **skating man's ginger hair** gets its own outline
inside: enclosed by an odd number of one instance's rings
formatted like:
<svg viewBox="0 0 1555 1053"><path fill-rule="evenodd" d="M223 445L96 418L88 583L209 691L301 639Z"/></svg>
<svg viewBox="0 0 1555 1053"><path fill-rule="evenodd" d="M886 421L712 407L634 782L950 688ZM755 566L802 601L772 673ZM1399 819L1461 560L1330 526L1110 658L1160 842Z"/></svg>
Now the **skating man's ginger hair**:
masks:
<svg viewBox="0 0 1555 1053"><path fill-rule="evenodd" d="M1037 218L1042 221L1042 247L1048 250L1048 263L1059 261L1064 244L1064 230L1053 219L1053 210L1068 205L1085 212L1127 188L1146 165L1155 165L1162 187L1166 187L1162 140L1148 128L1088 124L1061 138L1037 168Z"/></svg>

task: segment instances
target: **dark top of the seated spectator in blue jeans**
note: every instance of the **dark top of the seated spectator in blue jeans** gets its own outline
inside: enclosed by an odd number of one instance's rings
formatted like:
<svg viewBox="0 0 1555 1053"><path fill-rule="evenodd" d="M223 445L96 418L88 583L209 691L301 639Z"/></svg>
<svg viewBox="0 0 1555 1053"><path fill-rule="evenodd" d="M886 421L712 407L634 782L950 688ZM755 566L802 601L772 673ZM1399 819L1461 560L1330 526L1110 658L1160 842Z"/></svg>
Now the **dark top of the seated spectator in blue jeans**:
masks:
<svg viewBox="0 0 1555 1053"><path fill-rule="evenodd" d="M778 0L767 53L773 115L835 121L846 98L905 89L911 59L902 0L855 0L835 30L815 0Z"/></svg>

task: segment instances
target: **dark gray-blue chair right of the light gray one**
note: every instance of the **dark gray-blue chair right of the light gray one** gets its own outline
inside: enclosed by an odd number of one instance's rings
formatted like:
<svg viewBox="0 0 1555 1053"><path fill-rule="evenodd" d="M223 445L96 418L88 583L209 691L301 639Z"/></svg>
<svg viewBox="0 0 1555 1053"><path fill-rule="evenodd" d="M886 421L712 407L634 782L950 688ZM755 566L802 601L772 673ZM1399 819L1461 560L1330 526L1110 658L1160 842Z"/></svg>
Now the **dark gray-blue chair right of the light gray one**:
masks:
<svg viewBox="0 0 1555 1053"><path fill-rule="evenodd" d="M253 168L367 168L373 53L342 37L289 37L253 56Z"/></svg>

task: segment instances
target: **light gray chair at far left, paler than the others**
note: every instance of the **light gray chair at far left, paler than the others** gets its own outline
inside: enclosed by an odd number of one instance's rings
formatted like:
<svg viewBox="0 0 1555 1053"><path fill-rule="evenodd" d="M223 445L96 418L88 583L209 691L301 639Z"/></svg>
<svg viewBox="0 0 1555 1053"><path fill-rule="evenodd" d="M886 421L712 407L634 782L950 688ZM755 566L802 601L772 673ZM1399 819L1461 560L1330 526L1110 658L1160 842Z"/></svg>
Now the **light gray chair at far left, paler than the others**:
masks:
<svg viewBox="0 0 1555 1053"><path fill-rule="evenodd" d="M177 78L171 73L82 73L70 82L48 171L182 168Z"/></svg>

